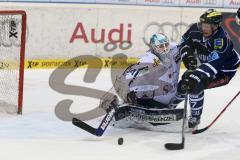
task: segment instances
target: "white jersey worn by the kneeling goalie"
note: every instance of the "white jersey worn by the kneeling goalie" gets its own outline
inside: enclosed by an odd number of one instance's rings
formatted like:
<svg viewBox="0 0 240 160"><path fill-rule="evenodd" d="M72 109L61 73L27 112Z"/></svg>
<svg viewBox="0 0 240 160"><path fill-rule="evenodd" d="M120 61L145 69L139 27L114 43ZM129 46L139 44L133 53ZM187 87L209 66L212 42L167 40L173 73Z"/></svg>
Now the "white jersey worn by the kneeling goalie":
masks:
<svg viewBox="0 0 240 160"><path fill-rule="evenodd" d="M127 102L126 95L134 91L137 98L154 99L168 105L175 96L178 85L181 56L176 43L170 43L168 65L161 63L151 50L147 51L139 63L130 66L118 78L118 94Z"/></svg>

